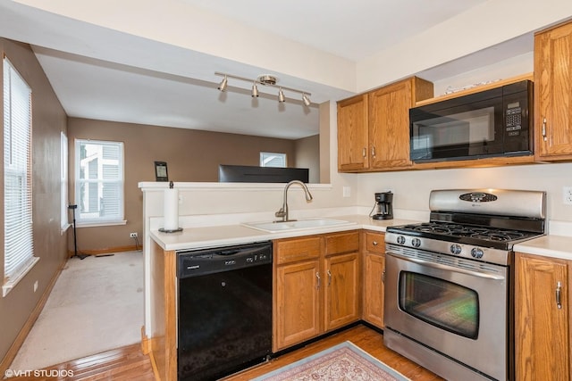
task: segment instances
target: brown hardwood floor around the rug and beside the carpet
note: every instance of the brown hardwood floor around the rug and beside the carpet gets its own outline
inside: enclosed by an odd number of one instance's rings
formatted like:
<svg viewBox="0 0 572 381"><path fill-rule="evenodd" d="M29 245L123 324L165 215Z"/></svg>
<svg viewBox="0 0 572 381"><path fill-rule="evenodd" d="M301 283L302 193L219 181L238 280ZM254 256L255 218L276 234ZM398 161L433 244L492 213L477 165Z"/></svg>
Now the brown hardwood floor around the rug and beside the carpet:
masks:
<svg viewBox="0 0 572 381"><path fill-rule="evenodd" d="M247 369L239 374L224 378L224 381L250 380L268 373L274 369L282 368L294 361L304 359L316 352L324 351L335 344L346 340L351 341L358 347L368 352L378 360L382 360L391 368L396 369L404 376L415 381L438 381L442 380L430 371L420 367L416 363L404 358L400 354L383 346L383 335L368 327L359 325L349 328L339 334L324 338L313 344L270 360L269 362ZM151 361L141 352L140 344L133 344L112 351L98 353L78 360L72 360L63 364L44 369L46 375L37 377L29 376L13 377L11 381L44 381L60 380L154 380ZM70 371L72 376L54 377L57 371ZM60 374L61 374L60 373Z"/></svg>

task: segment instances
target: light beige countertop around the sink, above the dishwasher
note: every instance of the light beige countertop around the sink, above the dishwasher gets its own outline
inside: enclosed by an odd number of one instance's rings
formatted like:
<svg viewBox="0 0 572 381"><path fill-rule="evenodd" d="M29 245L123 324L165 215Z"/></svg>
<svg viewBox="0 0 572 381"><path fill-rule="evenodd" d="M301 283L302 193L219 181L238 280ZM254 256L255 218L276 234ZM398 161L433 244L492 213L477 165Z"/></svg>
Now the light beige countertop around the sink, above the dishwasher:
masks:
<svg viewBox="0 0 572 381"><path fill-rule="evenodd" d="M369 229L384 232L386 227L416 223L411 219L371 219L368 216L349 215L336 216L332 219L342 219L349 224L311 229L292 229L280 233L267 233L255 228L242 225L224 225L201 228L183 228L177 233L163 233L157 229L151 229L153 240L163 250L192 250L204 247L225 246L229 244L248 244L252 242L268 241L278 238L294 236L310 236L314 234L333 233L356 229Z"/></svg>

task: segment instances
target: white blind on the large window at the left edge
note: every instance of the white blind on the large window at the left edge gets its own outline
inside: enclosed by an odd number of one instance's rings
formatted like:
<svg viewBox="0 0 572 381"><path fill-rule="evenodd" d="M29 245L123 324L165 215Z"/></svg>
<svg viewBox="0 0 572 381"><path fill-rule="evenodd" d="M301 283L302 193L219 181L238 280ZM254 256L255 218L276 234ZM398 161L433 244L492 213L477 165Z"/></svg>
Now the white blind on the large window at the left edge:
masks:
<svg viewBox="0 0 572 381"><path fill-rule="evenodd" d="M33 266L31 89L4 57L3 294Z"/></svg>

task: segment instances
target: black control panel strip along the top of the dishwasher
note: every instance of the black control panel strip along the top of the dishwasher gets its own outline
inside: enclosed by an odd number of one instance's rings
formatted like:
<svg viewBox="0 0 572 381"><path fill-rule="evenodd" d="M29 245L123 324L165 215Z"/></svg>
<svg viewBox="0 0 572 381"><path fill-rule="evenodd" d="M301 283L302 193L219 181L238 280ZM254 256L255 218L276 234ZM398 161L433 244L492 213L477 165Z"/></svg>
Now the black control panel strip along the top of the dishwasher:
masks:
<svg viewBox="0 0 572 381"><path fill-rule="evenodd" d="M272 263L272 242L240 244L177 252L177 277L197 277L215 272Z"/></svg>

